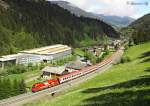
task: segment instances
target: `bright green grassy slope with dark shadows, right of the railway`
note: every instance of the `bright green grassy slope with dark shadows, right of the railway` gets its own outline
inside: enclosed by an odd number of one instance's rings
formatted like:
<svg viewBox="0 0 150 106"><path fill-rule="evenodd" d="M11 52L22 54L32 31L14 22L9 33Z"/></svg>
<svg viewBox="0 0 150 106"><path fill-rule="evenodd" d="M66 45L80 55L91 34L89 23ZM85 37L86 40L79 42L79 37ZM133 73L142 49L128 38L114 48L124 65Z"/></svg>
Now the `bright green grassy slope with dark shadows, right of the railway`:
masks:
<svg viewBox="0 0 150 106"><path fill-rule="evenodd" d="M129 48L131 62L118 64L52 100L25 106L149 106L150 42Z"/></svg>

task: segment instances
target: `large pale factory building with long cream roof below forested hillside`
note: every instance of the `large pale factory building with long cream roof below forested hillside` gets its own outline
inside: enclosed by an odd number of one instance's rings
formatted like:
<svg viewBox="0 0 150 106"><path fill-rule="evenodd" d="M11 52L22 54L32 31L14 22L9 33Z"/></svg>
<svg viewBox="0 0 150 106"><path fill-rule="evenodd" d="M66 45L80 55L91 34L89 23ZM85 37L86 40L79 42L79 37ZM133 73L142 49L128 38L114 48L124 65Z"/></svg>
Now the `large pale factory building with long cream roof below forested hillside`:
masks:
<svg viewBox="0 0 150 106"><path fill-rule="evenodd" d="M51 62L71 55L71 47L57 44L31 50L21 51L15 55L1 56L0 66L4 67L7 63L15 64L37 64L40 62Z"/></svg>

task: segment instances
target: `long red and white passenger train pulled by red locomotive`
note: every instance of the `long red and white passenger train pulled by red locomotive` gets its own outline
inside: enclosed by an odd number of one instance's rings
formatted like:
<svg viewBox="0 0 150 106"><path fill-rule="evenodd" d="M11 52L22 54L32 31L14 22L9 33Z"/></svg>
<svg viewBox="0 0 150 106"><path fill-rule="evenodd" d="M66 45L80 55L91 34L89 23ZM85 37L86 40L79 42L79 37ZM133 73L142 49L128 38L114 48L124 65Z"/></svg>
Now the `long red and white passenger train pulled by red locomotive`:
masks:
<svg viewBox="0 0 150 106"><path fill-rule="evenodd" d="M69 80L75 79L77 77L80 77L82 75L91 73L91 72L99 69L100 67L103 67L103 66L111 63L116 55L117 55L117 52L96 65L83 68L82 70L76 70L67 75L63 75L62 77L47 80L46 82L36 83L32 86L32 92L37 92L37 91L40 91L40 90L43 90L43 89L46 89L49 87L53 87L58 84L61 84L61 83L67 82Z"/></svg>

